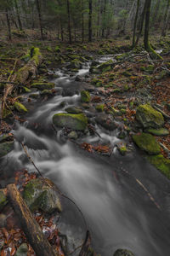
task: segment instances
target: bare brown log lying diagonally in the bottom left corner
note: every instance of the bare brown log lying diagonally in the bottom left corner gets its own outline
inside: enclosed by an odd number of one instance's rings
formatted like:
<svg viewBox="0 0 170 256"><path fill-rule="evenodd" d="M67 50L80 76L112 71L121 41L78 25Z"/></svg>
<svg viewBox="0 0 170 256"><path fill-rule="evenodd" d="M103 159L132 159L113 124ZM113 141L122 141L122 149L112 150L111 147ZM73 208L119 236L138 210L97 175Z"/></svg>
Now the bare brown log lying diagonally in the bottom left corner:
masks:
<svg viewBox="0 0 170 256"><path fill-rule="evenodd" d="M25 201L22 199L15 184L7 186L8 201L11 202L16 216L20 219L21 227L25 232L27 241L31 244L37 256L57 256L48 240L43 235L42 230L33 218Z"/></svg>

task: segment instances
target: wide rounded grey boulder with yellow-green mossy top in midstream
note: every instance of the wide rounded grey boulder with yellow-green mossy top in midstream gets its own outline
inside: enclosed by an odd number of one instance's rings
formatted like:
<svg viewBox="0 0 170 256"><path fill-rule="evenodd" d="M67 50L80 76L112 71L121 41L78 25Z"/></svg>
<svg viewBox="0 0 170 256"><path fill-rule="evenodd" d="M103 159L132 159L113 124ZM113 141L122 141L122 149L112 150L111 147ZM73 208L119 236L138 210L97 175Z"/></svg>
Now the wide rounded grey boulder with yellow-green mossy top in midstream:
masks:
<svg viewBox="0 0 170 256"><path fill-rule="evenodd" d="M84 131L88 125L88 119L83 113L56 113L53 122L58 127L67 127L76 131Z"/></svg>

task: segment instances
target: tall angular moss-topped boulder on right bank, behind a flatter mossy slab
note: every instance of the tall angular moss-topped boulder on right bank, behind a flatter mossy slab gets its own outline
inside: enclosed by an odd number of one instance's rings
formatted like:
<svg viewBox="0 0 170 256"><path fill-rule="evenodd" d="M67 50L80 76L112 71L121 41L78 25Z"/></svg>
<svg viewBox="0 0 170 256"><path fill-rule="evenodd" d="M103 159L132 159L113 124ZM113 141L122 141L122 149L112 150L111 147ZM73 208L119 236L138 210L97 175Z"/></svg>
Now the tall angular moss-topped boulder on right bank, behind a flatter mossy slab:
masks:
<svg viewBox="0 0 170 256"><path fill-rule="evenodd" d="M150 104L139 105L136 119L144 128L160 128L164 124L162 114L152 108Z"/></svg>

